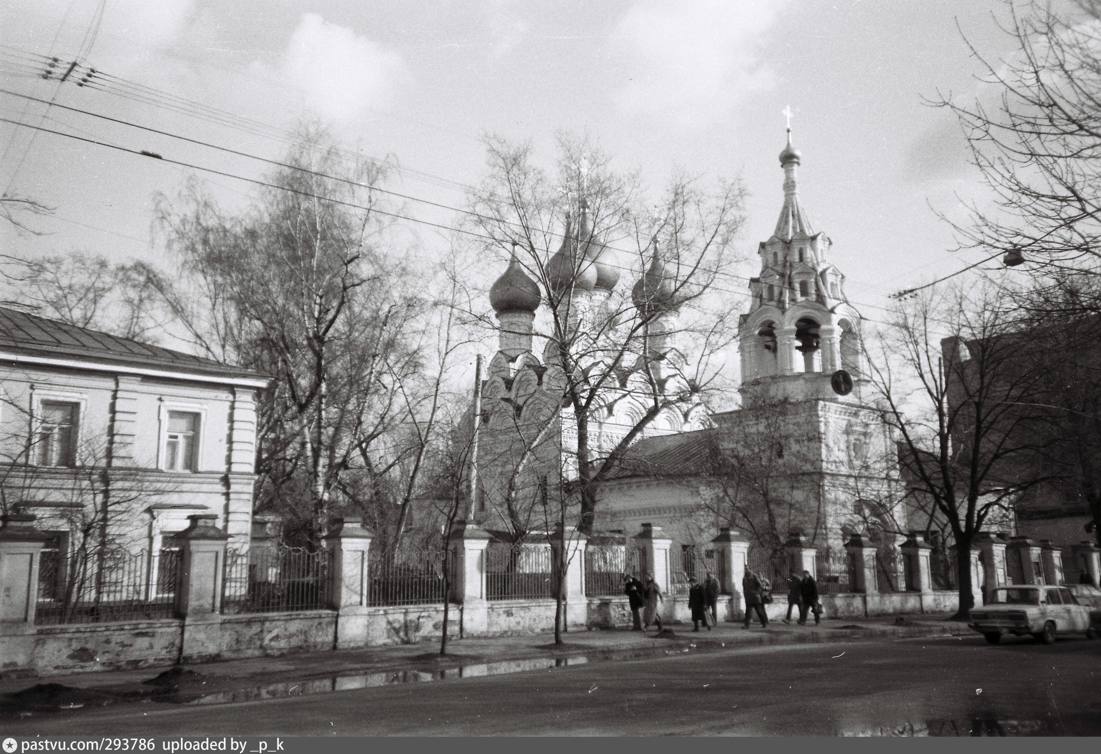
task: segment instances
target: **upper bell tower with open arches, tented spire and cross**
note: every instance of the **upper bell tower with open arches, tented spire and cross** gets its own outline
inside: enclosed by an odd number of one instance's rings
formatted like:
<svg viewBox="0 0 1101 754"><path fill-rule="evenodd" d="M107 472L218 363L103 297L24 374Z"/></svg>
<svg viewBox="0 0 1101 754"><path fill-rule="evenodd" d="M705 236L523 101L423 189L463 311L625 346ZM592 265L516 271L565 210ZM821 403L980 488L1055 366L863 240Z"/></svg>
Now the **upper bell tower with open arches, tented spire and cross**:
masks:
<svg viewBox="0 0 1101 754"><path fill-rule="evenodd" d="M788 125L780 153L784 204L772 237L757 247L761 274L750 280L750 310L739 323L746 402L861 397L860 315L830 262L833 242L815 231L799 201L802 162Z"/></svg>

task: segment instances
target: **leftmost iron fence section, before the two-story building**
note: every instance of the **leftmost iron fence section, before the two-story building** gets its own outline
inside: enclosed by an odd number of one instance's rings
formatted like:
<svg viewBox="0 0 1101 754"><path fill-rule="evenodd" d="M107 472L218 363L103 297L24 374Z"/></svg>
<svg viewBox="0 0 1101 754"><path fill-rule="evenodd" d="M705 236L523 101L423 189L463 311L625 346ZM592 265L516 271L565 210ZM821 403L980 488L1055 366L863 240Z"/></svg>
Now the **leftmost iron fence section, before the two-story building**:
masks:
<svg viewBox="0 0 1101 754"><path fill-rule="evenodd" d="M173 618L179 550L149 553L54 551L40 562L37 625Z"/></svg>

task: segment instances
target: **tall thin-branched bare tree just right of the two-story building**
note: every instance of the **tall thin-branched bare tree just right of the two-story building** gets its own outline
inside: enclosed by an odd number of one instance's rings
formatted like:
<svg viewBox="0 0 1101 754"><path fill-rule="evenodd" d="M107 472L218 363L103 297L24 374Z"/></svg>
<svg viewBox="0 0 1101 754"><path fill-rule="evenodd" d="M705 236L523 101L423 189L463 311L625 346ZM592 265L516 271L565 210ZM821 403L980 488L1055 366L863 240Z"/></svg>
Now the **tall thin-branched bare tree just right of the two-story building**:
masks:
<svg viewBox="0 0 1101 754"><path fill-rule="evenodd" d="M161 293L200 352L275 378L260 403L259 506L320 546L334 506L396 495L396 542L439 407L442 383L419 379L439 307L391 253L383 166L348 163L316 130L284 162L281 190L243 212L197 185L161 197L179 260Z"/></svg>

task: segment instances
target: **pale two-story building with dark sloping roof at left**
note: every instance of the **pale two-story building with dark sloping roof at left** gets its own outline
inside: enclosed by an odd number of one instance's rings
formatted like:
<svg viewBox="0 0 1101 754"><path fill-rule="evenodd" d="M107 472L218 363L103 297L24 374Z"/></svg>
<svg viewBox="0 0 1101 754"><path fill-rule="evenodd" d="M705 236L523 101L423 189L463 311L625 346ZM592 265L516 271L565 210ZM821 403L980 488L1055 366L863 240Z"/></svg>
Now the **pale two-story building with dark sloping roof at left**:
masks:
<svg viewBox="0 0 1101 754"><path fill-rule="evenodd" d="M248 547L270 378L0 308L0 513L51 535L39 599L170 591L165 537L216 514ZM174 587L173 587L174 588Z"/></svg>

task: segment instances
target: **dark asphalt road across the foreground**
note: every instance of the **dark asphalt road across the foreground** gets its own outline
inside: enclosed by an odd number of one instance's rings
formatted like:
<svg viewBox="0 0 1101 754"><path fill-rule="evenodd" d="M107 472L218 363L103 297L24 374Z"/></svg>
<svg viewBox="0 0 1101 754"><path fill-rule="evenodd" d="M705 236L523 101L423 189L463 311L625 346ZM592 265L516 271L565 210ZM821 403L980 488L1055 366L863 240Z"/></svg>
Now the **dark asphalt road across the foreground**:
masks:
<svg viewBox="0 0 1101 754"><path fill-rule="evenodd" d="M220 706L127 704L7 735L1101 735L1101 641L718 651Z"/></svg>

